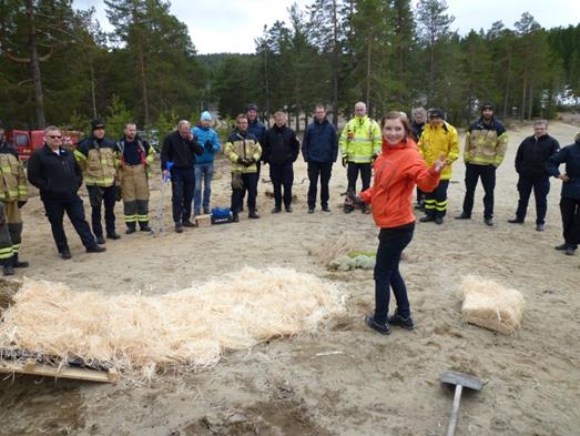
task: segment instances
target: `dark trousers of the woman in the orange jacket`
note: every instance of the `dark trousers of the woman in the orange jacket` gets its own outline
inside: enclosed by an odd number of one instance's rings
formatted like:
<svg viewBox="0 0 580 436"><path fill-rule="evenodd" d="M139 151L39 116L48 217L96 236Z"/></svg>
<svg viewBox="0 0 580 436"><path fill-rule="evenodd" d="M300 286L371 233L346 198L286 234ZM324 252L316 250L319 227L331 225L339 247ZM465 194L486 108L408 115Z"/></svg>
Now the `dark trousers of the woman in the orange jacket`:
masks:
<svg viewBox="0 0 580 436"><path fill-rule="evenodd" d="M390 288L397 302L397 312L403 317L410 315L407 286L399 272L400 255L413 240L415 223L397 229L380 229L377 262L375 264L375 321L385 323L388 316Z"/></svg>

